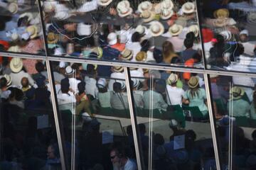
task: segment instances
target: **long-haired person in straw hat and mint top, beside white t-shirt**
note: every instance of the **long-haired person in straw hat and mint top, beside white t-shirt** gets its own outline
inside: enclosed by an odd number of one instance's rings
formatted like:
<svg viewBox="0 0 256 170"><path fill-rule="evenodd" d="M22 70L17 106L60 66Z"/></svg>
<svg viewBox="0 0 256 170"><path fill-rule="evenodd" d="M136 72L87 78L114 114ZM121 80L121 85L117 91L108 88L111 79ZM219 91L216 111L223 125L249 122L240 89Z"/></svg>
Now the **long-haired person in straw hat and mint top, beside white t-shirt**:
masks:
<svg viewBox="0 0 256 170"><path fill-rule="evenodd" d="M206 90L200 88L198 77L191 77L188 81L189 89L186 90L183 97L183 103L188 104L188 106L198 106L201 113L204 116L208 113L208 108L205 104L206 101Z"/></svg>

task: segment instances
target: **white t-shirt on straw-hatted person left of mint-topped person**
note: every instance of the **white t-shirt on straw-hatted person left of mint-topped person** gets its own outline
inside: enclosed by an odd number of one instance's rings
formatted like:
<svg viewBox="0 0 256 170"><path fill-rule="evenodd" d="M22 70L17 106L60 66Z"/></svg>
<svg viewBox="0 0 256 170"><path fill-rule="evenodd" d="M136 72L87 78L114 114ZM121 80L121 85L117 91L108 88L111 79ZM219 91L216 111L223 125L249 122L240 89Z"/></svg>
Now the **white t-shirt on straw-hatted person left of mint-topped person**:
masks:
<svg viewBox="0 0 256 170"><path fill-rule="evenodd" d="M166 101L169 105L180 105L182 104L182 97L185 91L176 86L166 85L168 95L166 96ZM171 100L171 102L170 102Z"/></svg>

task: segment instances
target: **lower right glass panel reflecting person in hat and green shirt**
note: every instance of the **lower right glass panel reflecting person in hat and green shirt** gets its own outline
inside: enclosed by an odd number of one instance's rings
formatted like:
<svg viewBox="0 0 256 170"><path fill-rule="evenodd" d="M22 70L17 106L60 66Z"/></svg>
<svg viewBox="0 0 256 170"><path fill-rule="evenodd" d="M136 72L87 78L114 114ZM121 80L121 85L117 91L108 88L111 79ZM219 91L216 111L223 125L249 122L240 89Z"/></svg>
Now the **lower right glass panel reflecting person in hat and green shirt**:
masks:
<svg viewBox="0 0 256 170"><path fill-rule="evenodd" d="M254 79L210 74L220 161L228 169L255 168Z"/></svg>

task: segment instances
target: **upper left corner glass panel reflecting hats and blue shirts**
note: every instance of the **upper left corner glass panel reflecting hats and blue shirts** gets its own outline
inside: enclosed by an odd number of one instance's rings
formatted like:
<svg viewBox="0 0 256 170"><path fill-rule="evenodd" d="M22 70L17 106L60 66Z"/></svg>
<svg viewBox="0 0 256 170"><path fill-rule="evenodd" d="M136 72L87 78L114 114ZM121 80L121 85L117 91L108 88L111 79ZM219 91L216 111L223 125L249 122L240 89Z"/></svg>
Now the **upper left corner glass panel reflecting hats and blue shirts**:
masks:
<svg viewBox="0 0 256 170"><path fill-rule="evenodd" d="M0 51L46 55L37 2L0 2Z"/></svg>

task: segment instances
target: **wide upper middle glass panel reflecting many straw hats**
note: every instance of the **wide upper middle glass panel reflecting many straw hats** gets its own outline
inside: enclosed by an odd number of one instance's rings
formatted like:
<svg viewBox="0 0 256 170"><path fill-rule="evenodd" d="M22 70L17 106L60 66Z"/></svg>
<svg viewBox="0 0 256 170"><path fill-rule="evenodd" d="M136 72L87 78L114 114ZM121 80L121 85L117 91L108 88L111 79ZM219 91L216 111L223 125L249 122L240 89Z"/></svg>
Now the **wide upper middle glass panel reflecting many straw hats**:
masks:
<svg viewBox="0 0 256 170"><path fill-rule="evenodd" d="M43 9L51 55L203 68L195 1L43 1Z"/></svg>

